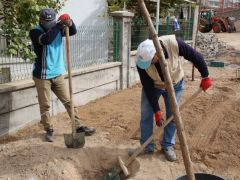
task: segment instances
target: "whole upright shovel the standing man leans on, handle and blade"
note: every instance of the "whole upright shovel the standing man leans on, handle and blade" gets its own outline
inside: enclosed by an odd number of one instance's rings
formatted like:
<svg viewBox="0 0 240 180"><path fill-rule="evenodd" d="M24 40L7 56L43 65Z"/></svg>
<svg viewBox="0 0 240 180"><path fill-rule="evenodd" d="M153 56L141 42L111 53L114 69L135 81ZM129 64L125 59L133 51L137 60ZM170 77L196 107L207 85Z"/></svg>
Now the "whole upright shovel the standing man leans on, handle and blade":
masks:
<svg viewBox="0 0 240 180"><path fill-rule="evenodd" d="M72 121L72 134L64 134L64 141L67 148L82 148L85 144L85 133L77 133L74 107L73 107L73 92L72 92L72 65L70 60L70 38L69 38L69 27L66 26L66 51L67 51L67 66L68 66L68 83L70 93L70 113Z"/></svg>

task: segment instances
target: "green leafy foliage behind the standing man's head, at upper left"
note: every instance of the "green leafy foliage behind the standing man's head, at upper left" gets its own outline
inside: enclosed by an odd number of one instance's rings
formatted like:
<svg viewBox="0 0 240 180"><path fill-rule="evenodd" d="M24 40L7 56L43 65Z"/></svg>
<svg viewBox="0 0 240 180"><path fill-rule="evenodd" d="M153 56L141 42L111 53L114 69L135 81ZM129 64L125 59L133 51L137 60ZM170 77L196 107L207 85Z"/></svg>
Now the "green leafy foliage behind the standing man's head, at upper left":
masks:
<svg viewBox="0 0 240 180"><path fill-rule="evenodd" d="M2 0L0 15L4 20L2 29L8 53L32 61L34 53L29 48L28 33L38 24L40 10L51 7L58 11L63 5L63 0Z"/></svg>

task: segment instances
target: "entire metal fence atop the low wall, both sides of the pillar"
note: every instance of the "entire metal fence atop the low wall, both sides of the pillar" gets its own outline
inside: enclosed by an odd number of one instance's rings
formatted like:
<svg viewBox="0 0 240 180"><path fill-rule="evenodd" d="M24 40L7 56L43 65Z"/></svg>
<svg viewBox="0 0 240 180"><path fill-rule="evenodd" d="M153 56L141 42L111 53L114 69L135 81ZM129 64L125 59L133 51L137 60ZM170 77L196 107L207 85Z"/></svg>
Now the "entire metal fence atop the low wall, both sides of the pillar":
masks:
<svg viewBox="0 0 240 180"><path fill-rule="evenodd" d="M172 22L166 19L159 25L158 35L176 34L178 38L192 38L193 21L179 21L181 29L173 31ZM131 50L136 50L143 40L149 38L147 25L141 19L133 19ZM103 26L80 26L77 34L70 38L72 68L80 69L92 65L119 60L120 24L112 22ZM26 40L28 43L29 40ZM7 42L0 32L0 84L29 79L32 76L30 61L6 53Z"/></svg>

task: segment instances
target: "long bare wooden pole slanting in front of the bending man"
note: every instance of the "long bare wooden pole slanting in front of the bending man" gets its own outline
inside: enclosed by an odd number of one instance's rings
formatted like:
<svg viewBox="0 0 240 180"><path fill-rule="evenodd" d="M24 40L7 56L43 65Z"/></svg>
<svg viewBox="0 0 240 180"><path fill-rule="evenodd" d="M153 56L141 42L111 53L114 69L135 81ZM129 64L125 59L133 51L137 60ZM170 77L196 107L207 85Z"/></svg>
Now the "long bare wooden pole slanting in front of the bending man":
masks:
<svg viewBox="0 0 240 180"><path fill-rule="evenodd" d="M179 141L180 141L180 146L181 146L183 161L184 161L184 165L185 165L185 169L186 169L186 173L187 173L187 178L188 178L188 180L195 180L195 176L194 176L193 168L192 168L192 162L191 162L191 159L190 159L190 154L189 154L189 150L188 150L188 146L187 146L184 126L183 126L183 123L182 123L179 107L178 107L178 104L177 104L175 91L174 91L173 84L172 84L172 79L171 79L170 73L168 71L168 64L165 60L165 56L164 56L162 47L160 46L160 42L158 40L157 33L154 29L154 26L153 26L153 23L151 21L151 17L149 15L149 12L146 8L146 5L145 5L143 0L138 0L138 4L139 4L139 6L142 10L142 13L144 15L145 20L148 23L150 34L152 36L153 43L154 43L154 46L155 46L156 51L157 51L157 56L161 57L160 58L160 65L161 65L162 73L163 73L163 76L164 76L164 79L165 79L166 89L167 89L167 92L168 92L168 95L169 95L171 110L172 110L172 113L174 115L174 119L175 119L176 126L177 126L177 133L178 133L178 137L179 137Z"/></svg>

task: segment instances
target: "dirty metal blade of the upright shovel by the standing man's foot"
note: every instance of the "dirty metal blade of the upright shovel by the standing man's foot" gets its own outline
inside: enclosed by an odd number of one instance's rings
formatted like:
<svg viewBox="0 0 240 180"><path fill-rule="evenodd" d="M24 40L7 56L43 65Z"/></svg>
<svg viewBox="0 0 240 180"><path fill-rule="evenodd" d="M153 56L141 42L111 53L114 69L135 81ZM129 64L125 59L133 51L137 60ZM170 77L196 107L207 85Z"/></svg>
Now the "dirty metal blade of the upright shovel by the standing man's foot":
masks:
<svg viewBox="0 0 240 180"><path fill-rule="evenodd" d="M82 148L85 145L85 133L64 134L64 141L67 148Z"/></svg>

